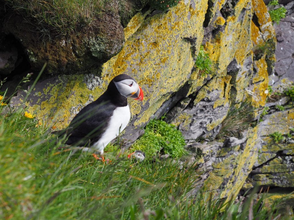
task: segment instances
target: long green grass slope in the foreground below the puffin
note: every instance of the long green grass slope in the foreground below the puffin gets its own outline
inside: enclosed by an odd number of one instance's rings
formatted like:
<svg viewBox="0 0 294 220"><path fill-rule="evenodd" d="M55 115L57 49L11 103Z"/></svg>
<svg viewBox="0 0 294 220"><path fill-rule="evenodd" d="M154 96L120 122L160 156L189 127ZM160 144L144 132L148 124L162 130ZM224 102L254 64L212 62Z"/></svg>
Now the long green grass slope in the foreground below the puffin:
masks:
<svg viewBox="0 0 294 220"><path fill-rule="evenodd" d="M31 88L32 89L32 88ZM157 123L157 121L154 123ZM159 122L158 122L159 123ZM161 122L160 122L161 123ZM164 125L165 126L165 125ZM264 199L224 203L213 192L188 196L195 165L127 159L109 145L103 163L58 141L20 107L0 107L0 219L272 219ZM251 205L252 204L252 205ZM243 210L243 211L240 211Z"/></svg>

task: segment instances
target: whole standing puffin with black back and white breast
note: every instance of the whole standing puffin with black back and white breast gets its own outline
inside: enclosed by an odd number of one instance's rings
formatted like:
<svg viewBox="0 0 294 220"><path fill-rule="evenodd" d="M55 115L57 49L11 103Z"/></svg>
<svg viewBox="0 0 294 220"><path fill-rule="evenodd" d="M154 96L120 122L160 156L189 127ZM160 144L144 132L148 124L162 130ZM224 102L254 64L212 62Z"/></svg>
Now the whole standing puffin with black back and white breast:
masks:
<svg viewBox="0 0 294 220"><path fill-rule="evenodd" d="M127 97L143 101L143 91L132 77L121 74L114 77L106 91L96 101L85 106L60 131L57 136L66 134L66 144L85 146L103 156L104 147L126 128L131 118ZM90 147L90 148L88 148Z"/></svg>

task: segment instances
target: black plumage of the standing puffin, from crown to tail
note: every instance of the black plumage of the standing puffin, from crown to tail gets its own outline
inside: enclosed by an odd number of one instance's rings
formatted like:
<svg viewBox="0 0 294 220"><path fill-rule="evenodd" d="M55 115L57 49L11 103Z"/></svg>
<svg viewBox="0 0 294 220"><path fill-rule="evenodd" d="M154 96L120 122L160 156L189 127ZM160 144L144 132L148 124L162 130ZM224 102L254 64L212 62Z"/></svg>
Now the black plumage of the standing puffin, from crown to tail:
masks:
<svg viewBox="0 0 294 220"><path fill-rule="evenodd" d="M108 122L117 107L127 106L127 98L121 95L116 88L115 82L123 79L132 79L126 74L114 77L109 83L106 91L96 101L85 106L71 121L69 126L61 131L52 133L61 136L69 135L66 144L78 143L86 145L94 143L101 138L106 130Z"/></svg>

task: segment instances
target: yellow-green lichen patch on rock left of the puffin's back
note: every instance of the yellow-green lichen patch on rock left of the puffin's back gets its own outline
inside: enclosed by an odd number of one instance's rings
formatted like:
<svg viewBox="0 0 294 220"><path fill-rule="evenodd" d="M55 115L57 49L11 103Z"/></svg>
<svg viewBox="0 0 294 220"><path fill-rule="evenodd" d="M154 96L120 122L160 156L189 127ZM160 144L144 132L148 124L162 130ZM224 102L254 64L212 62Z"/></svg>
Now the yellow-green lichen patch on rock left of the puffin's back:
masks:
<svg viewBox="0 0 294 220"><path fill-rule="evenodd" d="M103 91L100 88L91 91L82 81L83 75L60 76L56 84L47 84L48 86L43 89L44 93L35 93L40 99L36 104L28 104L28 111L36 114L38 120L45 123L50 121L48 126L54 124L58 129L64 128L74 117L74 113L70 111L71 107L77 107L77 110L80 110L88 101L90 93L95 99ZM52 117L52 115L55 116Z"/></svg>

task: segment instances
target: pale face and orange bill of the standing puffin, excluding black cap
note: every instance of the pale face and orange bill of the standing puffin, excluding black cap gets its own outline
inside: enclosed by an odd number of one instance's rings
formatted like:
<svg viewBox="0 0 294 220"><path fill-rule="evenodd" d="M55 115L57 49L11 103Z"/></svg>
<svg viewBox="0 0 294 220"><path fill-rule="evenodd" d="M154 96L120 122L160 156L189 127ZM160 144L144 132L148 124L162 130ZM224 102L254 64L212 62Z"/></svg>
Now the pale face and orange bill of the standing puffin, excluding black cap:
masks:
<svg viewBox="0 0 294 220"><path fill-rule="evenodd" d="M123 79L121 81L115 82L118 92L125 96L130 97L136 100L143 100L143 91L141 87L138 86L135 80L133 79Z"/></svg>

